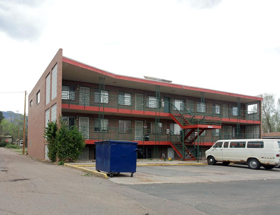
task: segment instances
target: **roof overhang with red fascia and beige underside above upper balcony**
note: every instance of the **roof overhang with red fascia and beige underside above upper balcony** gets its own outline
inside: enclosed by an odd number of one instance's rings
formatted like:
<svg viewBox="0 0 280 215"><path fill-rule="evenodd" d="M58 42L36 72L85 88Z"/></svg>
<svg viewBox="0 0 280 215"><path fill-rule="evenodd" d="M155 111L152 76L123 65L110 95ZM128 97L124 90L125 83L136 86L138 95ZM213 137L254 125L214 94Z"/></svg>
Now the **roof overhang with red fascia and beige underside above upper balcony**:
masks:
<svg viewBox="0 0 280 215"><path fill-rule="evenodd" d="M98 69L87 64L83 64L81 62L75 61L67 57L62 58L63 80L99 84L100 77L104 78L105 85L111 85L116 87L127 87L155 92L155 86L159 85L160 93L170 93L200 98L201 92L204 92L204 97L207 99L237 102L237 97L239 97L241 103L249 103L263 100L261 97L258 96L247 96L206 88L178 85L170 82L142 79L130 76L121 76Z"/></svg>

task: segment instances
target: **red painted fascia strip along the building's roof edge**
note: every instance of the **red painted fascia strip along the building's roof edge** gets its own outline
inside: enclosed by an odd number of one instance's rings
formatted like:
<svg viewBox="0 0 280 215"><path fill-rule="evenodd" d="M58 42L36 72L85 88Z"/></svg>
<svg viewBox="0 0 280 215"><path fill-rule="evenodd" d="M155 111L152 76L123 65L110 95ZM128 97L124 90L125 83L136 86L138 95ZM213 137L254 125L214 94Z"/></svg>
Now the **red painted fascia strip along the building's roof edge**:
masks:
<svg viewBox="0 0 280 215"><path fill-rule="evenodd" d="M127 80L127 81L134 81L134 82L140 82L140 83L146 83L146 84L152 84L152 85L161 85L161 86L167 86L167 87L174 87L174 88L179 88L179 89L185 89L185 90L195 90L195 91L201 91L205 93L217 93L221 95L227 95L227 96L235 96L235 97L240 97L240 98L246 98L246 99L255 99L262 101L262 98L255 97L255 96L246 96L246 95L240 95L236 93L227 93L227 92L222 92L218 90L209 90L209 89L204 89L204 88L199 88L199 87L190 87L190 86L185 86L185 85L178 85L178 84L172 84L172 83L165 83L165 82L157 82L157 81L152 81L152 80L147 80L147 79L140 79L136 77L129 77L129 76L121 76L121 75L116 75L114 73L109 73L104 70L97 69L96 67L92 67L77 61L74 61L72 59L62 57L62 62L69 63L81 68L85 68L97 73L100 73L102 75L110 76L115 79L122 79L122 80Z"/></svg>

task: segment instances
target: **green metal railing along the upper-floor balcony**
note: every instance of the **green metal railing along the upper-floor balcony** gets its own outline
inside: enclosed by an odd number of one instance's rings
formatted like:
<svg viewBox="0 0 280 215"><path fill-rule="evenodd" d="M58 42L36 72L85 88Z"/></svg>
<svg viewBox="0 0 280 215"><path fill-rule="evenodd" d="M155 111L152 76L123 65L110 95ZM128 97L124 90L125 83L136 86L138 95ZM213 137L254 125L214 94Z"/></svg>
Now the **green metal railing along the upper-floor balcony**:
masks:
<svg viewBox="0 0 280 215"><path fill-rule="evenodd" d="M227 119L244 119L252 121L260 121L261 113L237 110L236 108L217 108L209 107L204 105L190 105L190 104L180 104L180 107L175 107L172 102L156 101L152 99L137 99L123 96L111 96L105 93L82 93L74 91L62 91L62 104L70 105L81 105L81 106L93 106L102 108L115 108L126 109L126 110L141 110L141 111L152 111L152 112L164 112L164 113L182 113L189 116L193 116L193 119L198 120L201 117L194 116L205 116L205 114L211 113L211 120L214 122L221 114L222 118ZM216 116L215 116L216 114ZM183 123L183 117L182 123ZM210 119L210 118L209 118ZM208 120L209 120L208 119ZM209 120L209 122L211 121ZM214 123L215 124L215 123Z"/></svg>

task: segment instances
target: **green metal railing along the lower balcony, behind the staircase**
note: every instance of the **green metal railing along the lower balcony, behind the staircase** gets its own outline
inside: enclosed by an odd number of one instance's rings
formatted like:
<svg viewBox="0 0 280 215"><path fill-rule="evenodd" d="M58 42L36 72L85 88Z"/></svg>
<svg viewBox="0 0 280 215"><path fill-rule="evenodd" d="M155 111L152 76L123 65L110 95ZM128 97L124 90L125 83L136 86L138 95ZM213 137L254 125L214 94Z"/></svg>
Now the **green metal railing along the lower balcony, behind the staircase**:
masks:
<svg viewBox="0 0 280 215"><path fill-rule="evenodd" d="M127 128L96 128L79 127L85 139L89 140L127 140L127 141L170 141L170 130L148 130L148 129L127 129ZM123 132L125 130L125 132ZM173 134L173 133L172 133ZM180 139L180 135L176 135ZM212 133L207 131L199 136L200 142L216 142L220 139L259 139L260 135L234 134L234 133ZM195 140L197 142L197 140Z"/></svg>

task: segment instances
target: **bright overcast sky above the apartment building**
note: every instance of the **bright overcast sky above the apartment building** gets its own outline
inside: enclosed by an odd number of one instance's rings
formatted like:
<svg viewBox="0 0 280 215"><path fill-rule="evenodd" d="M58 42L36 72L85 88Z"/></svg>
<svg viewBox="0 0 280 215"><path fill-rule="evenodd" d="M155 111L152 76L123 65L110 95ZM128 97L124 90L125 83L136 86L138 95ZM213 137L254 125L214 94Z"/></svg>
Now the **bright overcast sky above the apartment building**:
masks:
<svg viewBox="0 0 280 215"><path fill-rule="evenodd" d="M24 113L59 48L115 74L279 98L279 11L279 0L0 0L0 110Z"/></svg>

